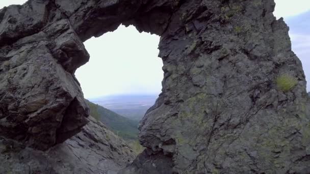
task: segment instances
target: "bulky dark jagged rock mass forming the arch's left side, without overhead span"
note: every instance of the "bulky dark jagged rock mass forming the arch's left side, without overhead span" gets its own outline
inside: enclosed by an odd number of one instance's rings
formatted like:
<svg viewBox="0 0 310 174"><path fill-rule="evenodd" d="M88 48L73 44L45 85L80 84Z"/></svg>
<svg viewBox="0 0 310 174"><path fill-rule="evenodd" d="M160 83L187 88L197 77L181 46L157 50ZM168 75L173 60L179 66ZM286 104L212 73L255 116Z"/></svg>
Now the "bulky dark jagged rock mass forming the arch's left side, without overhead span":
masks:
<svg viewBox="0 0 310 174"><path fill-rule="evenodd" d="M72 74L89 55L68 20L51 19L52 2L0 12L0 134L40 150L81 131L89 113Z"/></svg>

